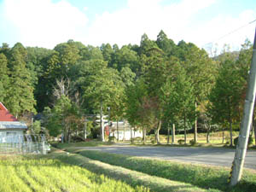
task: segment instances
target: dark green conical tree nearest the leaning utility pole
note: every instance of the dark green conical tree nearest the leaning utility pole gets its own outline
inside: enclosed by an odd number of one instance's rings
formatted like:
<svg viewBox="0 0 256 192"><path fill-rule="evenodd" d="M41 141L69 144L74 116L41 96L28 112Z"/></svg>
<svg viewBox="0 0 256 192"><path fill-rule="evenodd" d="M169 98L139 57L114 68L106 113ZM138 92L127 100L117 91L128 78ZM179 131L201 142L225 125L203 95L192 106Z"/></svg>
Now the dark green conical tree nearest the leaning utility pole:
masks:
<svg viewBox="0 0 256 192"><path fill-rule="evenodd" d="M215 86L209 96L211 106L209 112L214 122L230 126L230 146L233 145L233 123L240 119L242 94L246 80L241 75L241 70L236 61L227 57L221 62Z"/></svg>

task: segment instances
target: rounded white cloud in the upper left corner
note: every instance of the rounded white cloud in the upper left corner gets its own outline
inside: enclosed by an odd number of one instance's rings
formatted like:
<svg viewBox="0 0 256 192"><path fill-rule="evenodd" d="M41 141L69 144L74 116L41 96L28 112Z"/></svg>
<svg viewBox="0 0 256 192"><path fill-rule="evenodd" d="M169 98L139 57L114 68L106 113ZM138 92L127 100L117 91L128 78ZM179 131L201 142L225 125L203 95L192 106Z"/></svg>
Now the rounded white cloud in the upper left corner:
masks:
<svg viewBox="0 0 256 192"><path fill-rule="evenodd" d="M26 46L53 48L70 38L81 37L88 18L70 3L61 0L6 0L5 20L19 31L17 41Z"/></svg>

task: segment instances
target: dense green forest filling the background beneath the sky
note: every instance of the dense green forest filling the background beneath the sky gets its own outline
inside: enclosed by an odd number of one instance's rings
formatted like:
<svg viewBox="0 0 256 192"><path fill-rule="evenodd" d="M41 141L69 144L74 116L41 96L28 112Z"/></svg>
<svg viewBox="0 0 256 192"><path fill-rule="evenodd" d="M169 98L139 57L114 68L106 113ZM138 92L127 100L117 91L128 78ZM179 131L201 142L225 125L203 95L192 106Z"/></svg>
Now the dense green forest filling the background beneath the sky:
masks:
<svg viewBox="0 0 256 192"><path fill-rule="evenodd" d="M245 41L236 53L225 47L210 57L195 44L175 44L163 31L156 40L143 34L140 45L121 48L73 40L54 49L3 44L0 102L27 122L41 114L49 134L64 131L66 141L83 130L86 114L99 114L102 106L114 121L154 131L157 142L173 124L184 134L195 132L196 142L197 128L239 129L252 53Z"/></svg>

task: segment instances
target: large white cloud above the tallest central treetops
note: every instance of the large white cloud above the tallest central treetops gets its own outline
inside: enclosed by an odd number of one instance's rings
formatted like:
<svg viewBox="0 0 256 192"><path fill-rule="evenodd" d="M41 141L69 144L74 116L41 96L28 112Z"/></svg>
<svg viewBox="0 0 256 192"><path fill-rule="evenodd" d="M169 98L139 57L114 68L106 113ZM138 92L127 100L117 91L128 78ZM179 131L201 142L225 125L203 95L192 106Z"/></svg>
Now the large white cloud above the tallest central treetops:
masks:
<svg viewBox="0 0 256 192"><path fill-rule="evenodd" d="M183 0L161 6L160 0L128 0L127 8L98 15L90 26L90 44L139 44L144 32L155 39L161 29L168 37L181 40L185 37L190 17L205 9L214 0Z"/></svg>

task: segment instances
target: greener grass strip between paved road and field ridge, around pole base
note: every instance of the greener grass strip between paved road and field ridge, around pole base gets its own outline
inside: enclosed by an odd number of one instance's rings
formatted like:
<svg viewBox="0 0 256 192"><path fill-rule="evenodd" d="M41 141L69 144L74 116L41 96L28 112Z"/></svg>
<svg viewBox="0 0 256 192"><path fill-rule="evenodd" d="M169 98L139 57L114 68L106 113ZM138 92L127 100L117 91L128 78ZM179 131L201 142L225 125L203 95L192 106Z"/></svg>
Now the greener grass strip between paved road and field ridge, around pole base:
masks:
<svg viewBox="0 0 256 192"><path fill-rule="evenodd" d="M122 166L152 176L191 183L204 189L239 192L256 191L256 174L253 172L244 171L241 182L235 188L230 189L228 184L230 169L220 166L201 166L169 160L150 160L124 154L108 154L91 150L80 150L79 154L93 160L101 160L113 166Z"/></svg>

